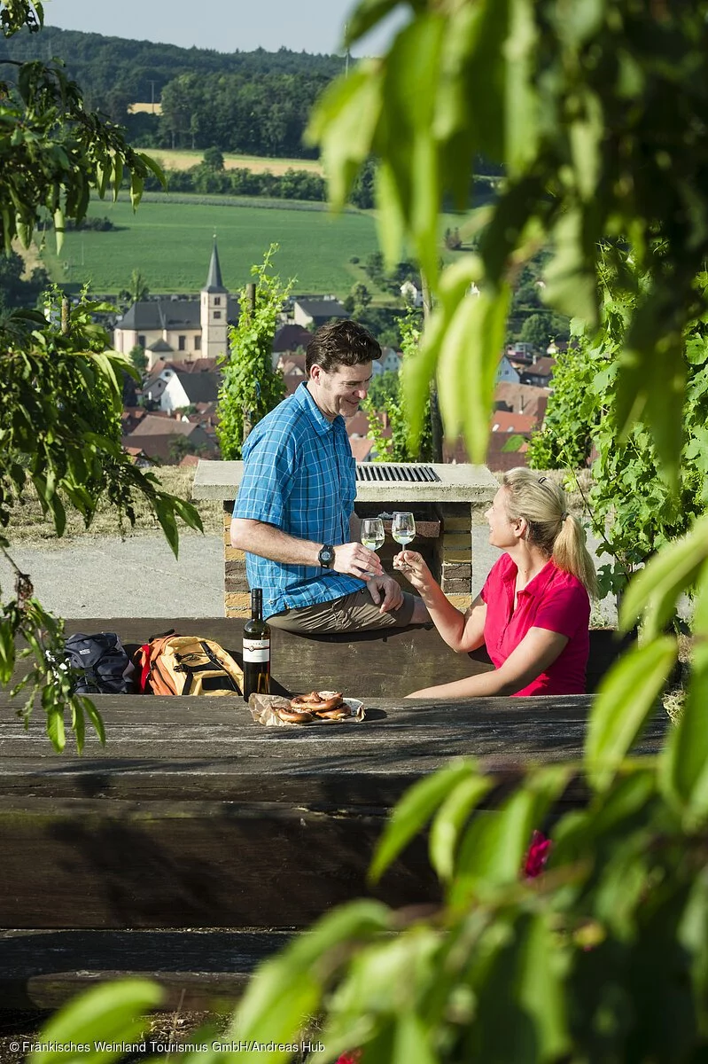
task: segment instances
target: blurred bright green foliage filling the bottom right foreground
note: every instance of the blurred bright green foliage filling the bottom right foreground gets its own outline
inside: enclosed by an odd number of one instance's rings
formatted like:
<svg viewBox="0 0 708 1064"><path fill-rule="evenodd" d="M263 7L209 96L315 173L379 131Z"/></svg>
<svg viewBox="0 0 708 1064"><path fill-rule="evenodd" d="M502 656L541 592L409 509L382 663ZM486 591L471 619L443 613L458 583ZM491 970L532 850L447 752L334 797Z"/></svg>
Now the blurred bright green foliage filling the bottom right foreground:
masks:
<svg viewBox="0 0 708 1064"><path fill-rule="evenodd" d="M371 879L428 826L429 860L444 893L438 911L394 912L373 900L336 909L260 966L221 1038L238 1049L207 1045L181 1059L288 1061L287 1047L313 1016L324 1049L311 1060L322 1064L353 1048L363 1050L361 1064L705 1059L708 527L703 531L701 553L679 541L650 563L625 600L623 627L644 613L654 634L698 572L693 676L660 757L628 760L627 751L671 667L667 636L626 655L606 681L581 764L532 768L495 794L491 776L460 760L404 796ZM561 814L557 803L578 775L589 787L587 805ZM553 849L532 880L524 854L540 825ZM125 1021L135 1025L145 987L130 986L120 1000L125 1005L132 993ZM54 1017L41 1040L61 1031L79 1041L79 1016L94 1030L114 1024L107 1014L115 1018L115 1001L91 994ZM37 1054L32 1064L58 1060Z"/></svg>

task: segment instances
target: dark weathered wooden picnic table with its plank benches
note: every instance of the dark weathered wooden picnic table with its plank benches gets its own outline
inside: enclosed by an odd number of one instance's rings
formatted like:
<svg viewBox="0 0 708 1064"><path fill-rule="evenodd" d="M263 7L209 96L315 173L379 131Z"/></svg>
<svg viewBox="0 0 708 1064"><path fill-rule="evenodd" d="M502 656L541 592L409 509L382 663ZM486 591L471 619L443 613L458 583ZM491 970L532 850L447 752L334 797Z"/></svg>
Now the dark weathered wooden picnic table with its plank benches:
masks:
<svg viewBox="0 0 708 1064"><path fill-rule="evenodd" d="M136 645L169 627L239 654L236 620L95 619L68 621L67 632L117 631ZM596 644L596 674L608 645ZM104 695L106 746L90 734L80 758L71 739L53 753L40 709L26 731L0 697L5 1008L54 1005L108 972L149 972L190 1001L233 995L332 905L367 894L395 907L439 899L422 839L375 891L366 883L386 817L412 782L473 755L504 786L529 762L581 754L590 696L403 699L489 667L433 631L274 631L272 653L276 689L343 689L364 699L367 720L262 728L240 699ZM658 748L664 724L653 722L637 752ZM562 803L584 798L576 781Z"/></svg>

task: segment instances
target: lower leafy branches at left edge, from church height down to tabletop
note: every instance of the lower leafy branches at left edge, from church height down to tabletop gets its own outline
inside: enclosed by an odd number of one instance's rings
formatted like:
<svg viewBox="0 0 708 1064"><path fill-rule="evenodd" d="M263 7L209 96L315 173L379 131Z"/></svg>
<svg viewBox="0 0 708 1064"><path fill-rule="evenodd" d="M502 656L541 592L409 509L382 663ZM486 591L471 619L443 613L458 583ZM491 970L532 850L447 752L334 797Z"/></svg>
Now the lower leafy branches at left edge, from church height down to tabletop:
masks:
<svg viewBox="0 0 708 1064"><path fill-rule="evenodd" d="M2 329L4 408L0 420L0 551L14 567L14 596L0 599L0 684L11 683L23 662L23 679L11 694L23 695L26 721L37 698L47 714L47 732L57 750L65 745L65 713L81 750L84 714L102 737L89 699L70 694L60 668L63 624L34 598L31 579L12 561L12 521L30 487L57 536L66 528L67 506L90 527L99 503L134 523L136 500L146 503L176 554L178 518L201 530L197 510L163 491L125 454L120 438L122 375L136 376L121 355L106 351L108 337L91 314L103 304L82 302L67 312L64 327L36 312L15 312ZM0 589L1 591L1 589ZM18 649L21 639L26 647ZM29 667L28 667L29 666Z"/></svg>

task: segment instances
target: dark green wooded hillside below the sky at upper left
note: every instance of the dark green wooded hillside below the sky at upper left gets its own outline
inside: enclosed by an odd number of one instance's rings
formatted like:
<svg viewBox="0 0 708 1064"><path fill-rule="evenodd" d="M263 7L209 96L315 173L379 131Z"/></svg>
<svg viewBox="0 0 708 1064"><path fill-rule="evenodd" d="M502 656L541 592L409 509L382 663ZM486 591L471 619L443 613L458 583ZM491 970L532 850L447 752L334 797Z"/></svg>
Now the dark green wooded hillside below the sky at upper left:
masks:
<svg viewBox="0 0 708 1064"><path fill-rule="evenodd" d="M344 63L286 48L222 53L53 27L0 39L0 61L52 59L81 84L86 106L125 126L133 143L273 157L317 154L302 134L316 97ZM129 104L152 100L162 117L129 115Z"/></svg>

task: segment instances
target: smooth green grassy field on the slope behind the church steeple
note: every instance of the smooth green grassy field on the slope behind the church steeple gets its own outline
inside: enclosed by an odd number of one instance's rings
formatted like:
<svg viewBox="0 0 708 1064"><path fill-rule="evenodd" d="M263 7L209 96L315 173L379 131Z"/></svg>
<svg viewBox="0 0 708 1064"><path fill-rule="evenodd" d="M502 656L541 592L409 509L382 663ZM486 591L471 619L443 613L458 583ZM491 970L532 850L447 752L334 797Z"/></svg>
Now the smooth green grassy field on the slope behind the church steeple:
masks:
<svg viewBox="0 0 708 1064"><path fill-rule="evenodd" d="M43 259L52 280L89 282L94 292L117 293L139 269L152 292L196 293L206 279L216 233L223 282L231 292L250 280L251 266L276 242L276 269L283 279L297 279L297 290L344 295L363 279L350 257L364 262L377 250L370 214L334 217L323 204L301 210L280 203L266 206L255 199L246 204L199 196L168 201L156 195L146 196L134 214L127 200L97 200L89 214L105 215L120 228L69 232L60 256L48 234Z"/></svg>

